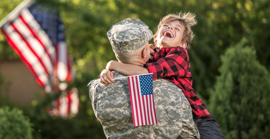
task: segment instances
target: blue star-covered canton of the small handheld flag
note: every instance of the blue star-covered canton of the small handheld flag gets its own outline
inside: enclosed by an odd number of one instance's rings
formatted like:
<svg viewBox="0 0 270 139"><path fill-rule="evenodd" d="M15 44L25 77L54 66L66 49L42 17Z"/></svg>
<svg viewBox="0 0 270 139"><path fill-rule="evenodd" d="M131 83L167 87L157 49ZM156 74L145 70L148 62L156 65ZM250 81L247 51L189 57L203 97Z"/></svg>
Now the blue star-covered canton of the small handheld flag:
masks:
<svg viewBox="0 0 270 139"><path fill-rule="evenodd" d="M153 94L153 77L151 75L140 75L141 95Z"/></svg>

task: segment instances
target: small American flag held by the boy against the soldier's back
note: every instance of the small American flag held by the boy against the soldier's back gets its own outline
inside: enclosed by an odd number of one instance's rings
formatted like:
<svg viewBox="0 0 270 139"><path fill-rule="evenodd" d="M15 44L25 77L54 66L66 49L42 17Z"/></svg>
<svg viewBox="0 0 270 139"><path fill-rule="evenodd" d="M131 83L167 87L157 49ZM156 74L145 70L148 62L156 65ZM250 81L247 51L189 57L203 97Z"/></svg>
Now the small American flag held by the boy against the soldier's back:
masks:
<svg viewBox="0 0 270 139"><path fill-rule="evenodd" d="M157 124L152 73L129 76L128 81L133 125Z"/></svg>

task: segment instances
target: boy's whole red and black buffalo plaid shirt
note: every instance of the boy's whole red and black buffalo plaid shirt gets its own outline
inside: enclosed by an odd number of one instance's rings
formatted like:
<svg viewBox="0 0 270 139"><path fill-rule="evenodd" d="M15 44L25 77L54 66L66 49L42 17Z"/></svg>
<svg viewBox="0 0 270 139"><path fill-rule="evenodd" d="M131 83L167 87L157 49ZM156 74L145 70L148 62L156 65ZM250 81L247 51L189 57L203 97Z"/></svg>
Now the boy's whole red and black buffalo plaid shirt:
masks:
<svg viewBox="0 0 270 139"><path fill-rule="evenodd" d="M192 88L192 75L187 50L178 46L170 48L154 48L156 52L153 61L149 60L143 66L153 73L153 80L164 78L178 86L190 103L194 118L209 118L203 101ZM150 63L152 62L152 63Z"/></svg>

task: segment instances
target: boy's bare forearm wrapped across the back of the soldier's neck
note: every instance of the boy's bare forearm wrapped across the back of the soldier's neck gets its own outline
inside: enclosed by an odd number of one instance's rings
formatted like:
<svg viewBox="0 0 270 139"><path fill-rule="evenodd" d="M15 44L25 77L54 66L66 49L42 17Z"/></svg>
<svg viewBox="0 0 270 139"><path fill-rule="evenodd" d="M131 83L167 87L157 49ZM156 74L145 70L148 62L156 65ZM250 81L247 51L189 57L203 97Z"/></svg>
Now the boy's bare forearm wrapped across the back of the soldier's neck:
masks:
<svg viewBox="0 0 270 139"><path fill-rule="evenodd" d="M106 69L115 70L127 76L149 73L148 70L144 67L133 64L120 63L114 60L111 60L110 62L107 63Z"/></svg>

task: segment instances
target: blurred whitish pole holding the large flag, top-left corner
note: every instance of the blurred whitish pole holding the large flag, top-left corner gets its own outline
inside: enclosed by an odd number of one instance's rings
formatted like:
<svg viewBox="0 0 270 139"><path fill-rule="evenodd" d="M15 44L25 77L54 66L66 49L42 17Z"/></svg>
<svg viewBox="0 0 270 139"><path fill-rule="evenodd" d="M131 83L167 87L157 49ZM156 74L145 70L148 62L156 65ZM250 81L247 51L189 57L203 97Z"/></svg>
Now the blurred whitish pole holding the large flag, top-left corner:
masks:
<svg viewBox="0 0 270 139"><path fill-rule="evenodd" d="M0 28L2 28L3 25L5 25L6 22L13 20L23 8L29 6L35 2L35 0L24 0L22 1L16 8L14 8L7 16L5 16L1 21L0 21Z"/></svg>

